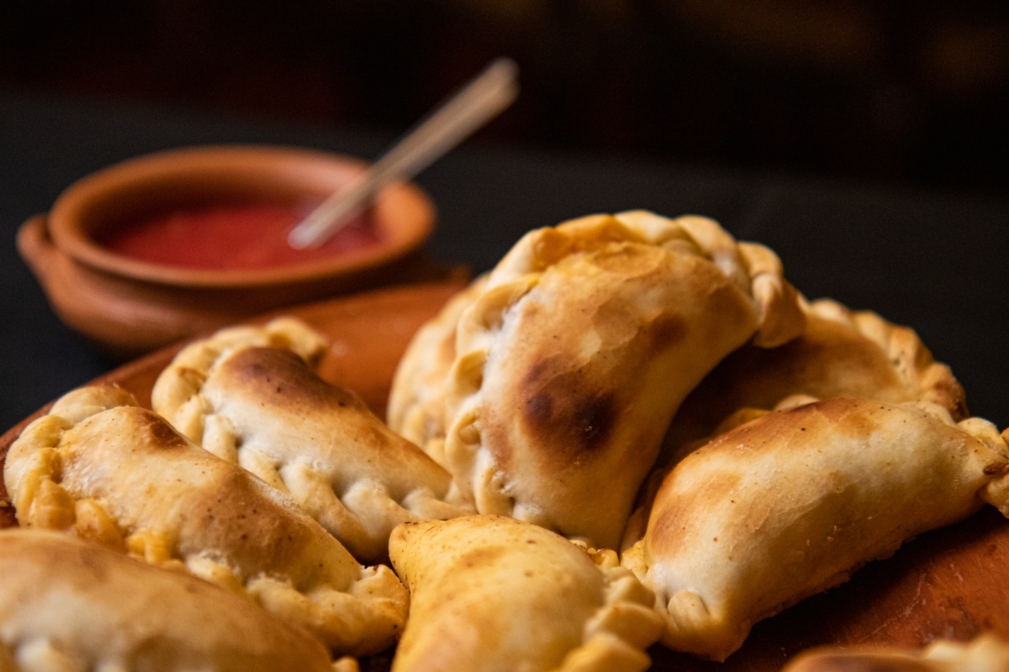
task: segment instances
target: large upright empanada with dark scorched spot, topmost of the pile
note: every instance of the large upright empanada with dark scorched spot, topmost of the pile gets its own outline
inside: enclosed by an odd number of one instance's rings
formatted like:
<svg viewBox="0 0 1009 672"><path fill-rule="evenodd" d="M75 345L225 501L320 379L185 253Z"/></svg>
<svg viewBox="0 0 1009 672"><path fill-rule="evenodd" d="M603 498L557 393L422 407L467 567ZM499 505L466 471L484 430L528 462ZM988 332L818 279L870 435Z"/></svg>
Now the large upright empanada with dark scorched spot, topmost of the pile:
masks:
<svg viewBox="0 0 1009 672"><path fill-rule="evenodd" d="M460 318L446 463L479 513L615 548L687 393L804 319L774 253L709 219L637 211L532 231Z"/></svg>

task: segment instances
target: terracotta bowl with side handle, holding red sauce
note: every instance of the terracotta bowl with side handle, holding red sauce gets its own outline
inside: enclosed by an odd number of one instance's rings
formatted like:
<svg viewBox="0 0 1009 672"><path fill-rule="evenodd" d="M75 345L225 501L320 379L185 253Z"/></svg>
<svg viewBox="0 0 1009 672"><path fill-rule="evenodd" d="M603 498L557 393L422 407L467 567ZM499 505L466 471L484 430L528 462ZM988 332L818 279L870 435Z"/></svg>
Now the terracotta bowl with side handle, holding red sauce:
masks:
<svg viewBox="0 0 1009 672"><path fill-rule="evenodd" d="M18 250L60 317L118 358L282 306L437 275L419 251L433 230L434 207L413 185L393 185L376 199L370 214L379 242L297 265L175 267L96 242L116 227L180 209L316 204L365 165L348 156L266 146L141 156L72 185L47 215L21 226Z"/></svg>

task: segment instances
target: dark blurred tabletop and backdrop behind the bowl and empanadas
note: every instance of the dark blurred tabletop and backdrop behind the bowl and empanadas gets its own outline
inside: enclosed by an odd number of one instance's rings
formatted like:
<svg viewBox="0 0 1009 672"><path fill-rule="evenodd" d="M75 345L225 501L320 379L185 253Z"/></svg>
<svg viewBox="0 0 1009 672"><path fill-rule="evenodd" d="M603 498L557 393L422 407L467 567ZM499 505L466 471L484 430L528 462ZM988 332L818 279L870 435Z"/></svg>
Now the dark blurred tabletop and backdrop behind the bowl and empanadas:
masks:
<svg viewBox="0 0 1009 672"><path fill-rule="evenodd" d="M115 365L45 305L17 226L130 156L375 157L491 59L519 101L419 177L429 250L649 208L774 248L810 298L912 325L1009 425L1009 14L994 2L4 0L0 430Z"/></svg>

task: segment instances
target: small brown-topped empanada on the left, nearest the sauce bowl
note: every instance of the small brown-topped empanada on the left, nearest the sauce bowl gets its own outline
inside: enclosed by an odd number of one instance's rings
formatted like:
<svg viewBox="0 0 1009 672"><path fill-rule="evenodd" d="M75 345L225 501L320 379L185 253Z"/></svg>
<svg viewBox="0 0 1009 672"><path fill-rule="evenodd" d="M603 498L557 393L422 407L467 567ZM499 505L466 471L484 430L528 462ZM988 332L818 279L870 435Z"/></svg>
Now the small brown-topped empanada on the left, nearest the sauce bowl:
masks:
<svg viewBox="0 0 1009 672"><path fill-rule="evenodd" d="M446 503L451 476L389 430L357 395L316 375L284 347L183 350L151 395L191 440L289 492L354 557L378 563L408 521L472 513Z"/></svg>

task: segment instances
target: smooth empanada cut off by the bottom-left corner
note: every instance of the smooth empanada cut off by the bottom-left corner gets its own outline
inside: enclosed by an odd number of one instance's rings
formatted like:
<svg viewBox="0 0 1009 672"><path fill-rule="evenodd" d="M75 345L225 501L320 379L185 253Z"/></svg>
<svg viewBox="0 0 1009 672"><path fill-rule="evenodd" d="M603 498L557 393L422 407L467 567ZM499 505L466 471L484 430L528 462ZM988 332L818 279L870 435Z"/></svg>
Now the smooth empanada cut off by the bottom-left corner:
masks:
<svg viewBox="0 0 1009 672"><path fill-rule="evenodd" d="M231 591L38 530L0 532L4 648L4 670L330 672L318 641Z"/></svg>

